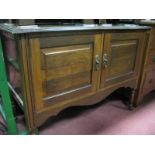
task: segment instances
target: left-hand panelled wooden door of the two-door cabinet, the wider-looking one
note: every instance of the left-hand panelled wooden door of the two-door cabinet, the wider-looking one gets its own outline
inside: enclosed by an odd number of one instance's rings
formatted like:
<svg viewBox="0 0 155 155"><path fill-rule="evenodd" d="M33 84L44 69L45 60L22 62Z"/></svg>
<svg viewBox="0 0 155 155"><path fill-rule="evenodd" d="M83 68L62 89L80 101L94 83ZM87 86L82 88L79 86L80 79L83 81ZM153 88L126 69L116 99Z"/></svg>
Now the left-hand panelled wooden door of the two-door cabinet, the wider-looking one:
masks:
<svg viewBox="0 0 155 155"><path fill-rule="evenodd" d="M101 39L94 34L30 39L37 111L96 92L99 70L95 57L101 52Z"/></svg>

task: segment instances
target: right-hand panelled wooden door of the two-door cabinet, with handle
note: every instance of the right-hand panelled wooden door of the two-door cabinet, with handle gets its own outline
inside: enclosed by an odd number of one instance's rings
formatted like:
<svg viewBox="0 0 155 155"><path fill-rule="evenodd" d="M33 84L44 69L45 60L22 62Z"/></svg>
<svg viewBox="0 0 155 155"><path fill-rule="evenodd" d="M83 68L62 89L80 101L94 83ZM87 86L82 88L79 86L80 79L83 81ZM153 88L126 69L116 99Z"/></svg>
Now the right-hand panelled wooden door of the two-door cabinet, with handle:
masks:
<svg viewBox="0 0 155 155"><path fill-rule="evenodd" d="M135 77L140 66L143 33L106 33L100 88Z"/></svg>

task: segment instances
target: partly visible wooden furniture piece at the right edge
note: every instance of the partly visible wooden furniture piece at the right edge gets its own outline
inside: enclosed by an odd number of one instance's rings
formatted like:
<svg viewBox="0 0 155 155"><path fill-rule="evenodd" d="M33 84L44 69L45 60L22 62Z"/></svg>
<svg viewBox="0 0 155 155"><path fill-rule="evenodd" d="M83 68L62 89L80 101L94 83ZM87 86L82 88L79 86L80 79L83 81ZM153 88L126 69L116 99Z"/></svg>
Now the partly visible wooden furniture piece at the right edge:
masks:
<svg viewBox="0 0 155 155"><path fill-rule="evenodd" d="M136 105L142 103L144 97L155 90L155 21L141 20L140 25L151 26L147 39L147 49L144 55L144 63L136 97Z"/></svg>

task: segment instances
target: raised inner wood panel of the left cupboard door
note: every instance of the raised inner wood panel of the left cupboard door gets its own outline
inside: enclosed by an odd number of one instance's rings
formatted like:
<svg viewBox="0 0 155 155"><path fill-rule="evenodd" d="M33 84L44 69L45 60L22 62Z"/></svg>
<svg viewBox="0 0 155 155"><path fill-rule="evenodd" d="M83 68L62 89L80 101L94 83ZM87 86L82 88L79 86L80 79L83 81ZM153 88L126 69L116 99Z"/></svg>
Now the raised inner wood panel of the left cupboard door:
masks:
<svg viewBox="0 0 155 155"><path fill-rule="evenodd" d="M44 94L57 95L91 85L93 49L78 45L43 49Z"/></svg>

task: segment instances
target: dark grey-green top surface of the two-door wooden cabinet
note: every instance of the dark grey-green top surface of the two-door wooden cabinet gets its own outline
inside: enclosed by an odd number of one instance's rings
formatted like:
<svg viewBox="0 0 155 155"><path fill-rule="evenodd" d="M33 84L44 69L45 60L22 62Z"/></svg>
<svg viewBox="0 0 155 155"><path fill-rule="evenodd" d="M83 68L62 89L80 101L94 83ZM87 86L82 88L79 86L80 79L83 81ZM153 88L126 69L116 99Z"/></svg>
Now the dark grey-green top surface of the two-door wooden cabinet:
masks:
<svg viewBox="0 0 155 155"><path fill-rule="evenodd" d="M81 24L73 26L16 26L14 24L0 24L0 30L6 31L12 34L23 34L23 33L36 33L36 32L66 32L66 31L86 31L86 30L139 30L139 29L150 29L148 26L139 26L134 24Z"/></svg>

